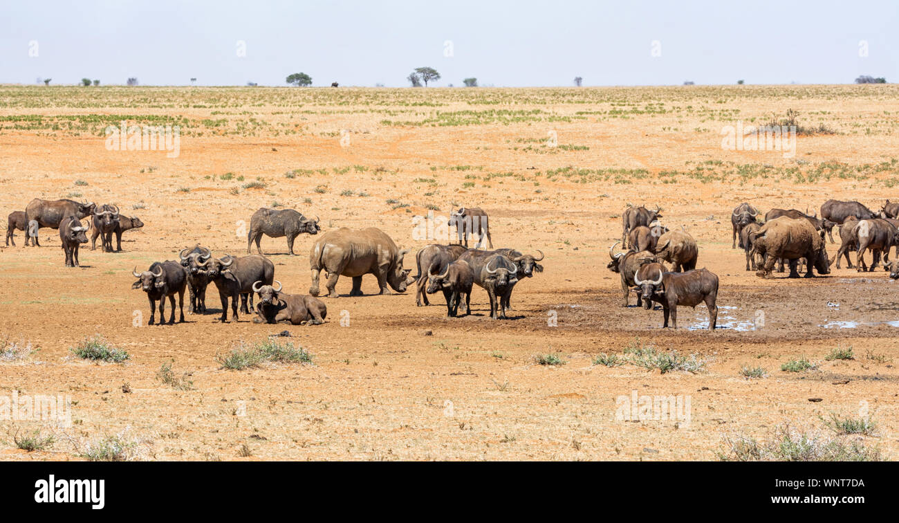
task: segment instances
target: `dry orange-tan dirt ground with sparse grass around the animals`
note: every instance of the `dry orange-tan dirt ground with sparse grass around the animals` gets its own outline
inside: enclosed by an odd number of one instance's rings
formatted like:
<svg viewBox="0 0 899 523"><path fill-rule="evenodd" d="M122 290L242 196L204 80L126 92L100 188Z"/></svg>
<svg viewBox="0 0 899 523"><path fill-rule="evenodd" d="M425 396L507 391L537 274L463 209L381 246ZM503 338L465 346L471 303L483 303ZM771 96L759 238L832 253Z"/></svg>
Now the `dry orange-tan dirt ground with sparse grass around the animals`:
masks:
<svg viewBox="0 0 899 523"><path fill-rule="evenodd" d="M767 440L785 423L832 434L823 422L832 414L875 421L872 435L850 438L895 459L899 284L845 265L816 279L759 279L731 249L729 217L741 201L811 212L831 197L876 209L899 199L897 95L891 85L0 87L4 212L68 197L116 203L146 224L125 233L122 253L83 249L77 269L63 266L51 229L40 230L41 247L22 246L19 231L15 247L0 249L0 332L34 350L0 363L0 395L72 403L70 427L0 420L0 459L83 459L119 435L129 457L156 460L706 460L728 437ZM832 133L798 137L793 157L722 148L725 126L788 109ZM103 129L122 120L180 125L180 154L107 150ZM242 255L245 223L274 202L321 217L323 231L378 226L414 251L433 243L415 234L414 217L446 216L450 202L479 206L495 247L540 249L546 270L515 288L505 321L489 318L480 288L473 315L448 319L442 297L416 307L413 288L375 296L368 276L363 297L340 280L343 296L324 298L320 326L246 315L219 324L212 287L211 313L134 326L135 311L148 317L144 293L131 289L135 266L197 242ZM664 224L696 237L699 267L720 277L716 332L696 328L708 319L702 305L681 308L677 331L661 328L660 310L633 306L633 295L621 306L619 275L606 264L628 203L658 204ZM291 257L283 238L263 238L285 291L307 292L312 241L300 236ZM313 364L237 371L215 359L284 330ZM95 334L130 358L73 356ZM642 344L706 365L660 373L594 363ZM825 359L838 346L854 359ZM564 364L537 363L549 354ZM802 356L818 367L780 369ZM190 390L157 377L172 360L190 373ZM742 377L743 367L767 376ZM689 419L620 419L619 396L632 391L689 397ZM55 440L17 448L16 433L30 430Z"/></svg>

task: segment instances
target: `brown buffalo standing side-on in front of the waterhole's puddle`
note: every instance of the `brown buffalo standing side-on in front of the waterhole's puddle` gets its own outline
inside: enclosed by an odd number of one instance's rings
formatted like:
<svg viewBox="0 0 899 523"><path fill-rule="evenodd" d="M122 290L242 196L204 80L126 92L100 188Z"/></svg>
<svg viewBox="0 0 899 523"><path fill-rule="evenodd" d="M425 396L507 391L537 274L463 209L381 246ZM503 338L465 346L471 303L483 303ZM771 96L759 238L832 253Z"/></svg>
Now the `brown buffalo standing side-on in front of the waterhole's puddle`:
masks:
<svg viewBox="0 0 899 523"><path fill-rule="evenodd" d="M696 308L705 302L708 307L708 329L715 330L718 319L718 277L708 269L688 270L686 272L664 272L652 280L635 282L641 290L645 308L652 308L652 302L662 305L664 324L668 326L671 316L672 327L677 328L677 307Z"/></svg>

